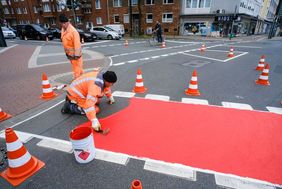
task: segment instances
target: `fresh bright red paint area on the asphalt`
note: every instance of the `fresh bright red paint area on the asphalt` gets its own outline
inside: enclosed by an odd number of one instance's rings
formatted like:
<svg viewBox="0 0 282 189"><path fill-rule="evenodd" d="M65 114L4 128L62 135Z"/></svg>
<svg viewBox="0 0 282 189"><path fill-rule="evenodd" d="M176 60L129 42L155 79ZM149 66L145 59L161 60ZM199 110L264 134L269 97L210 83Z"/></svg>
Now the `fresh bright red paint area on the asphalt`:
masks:
<svg viewBox="0 0 282 189"><path fill-rule="evenodd" d="M281 115L132 98L100 122L97 148L282 184Z"/></svg>

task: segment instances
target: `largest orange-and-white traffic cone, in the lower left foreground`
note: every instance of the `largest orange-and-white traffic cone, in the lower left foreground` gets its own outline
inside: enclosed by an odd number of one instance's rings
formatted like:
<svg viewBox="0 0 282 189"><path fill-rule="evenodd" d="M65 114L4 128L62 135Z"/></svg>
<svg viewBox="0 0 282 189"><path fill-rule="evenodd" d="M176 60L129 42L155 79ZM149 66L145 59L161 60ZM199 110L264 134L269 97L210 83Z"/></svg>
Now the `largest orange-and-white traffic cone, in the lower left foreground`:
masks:
<svg viewBox="0 0 282 189"><path fill-rule="evenodd" d="M8 168L1 176L13 186L18 186L41 169L45 163L38 160L23 146L12 128L5 130Z"/></svg>

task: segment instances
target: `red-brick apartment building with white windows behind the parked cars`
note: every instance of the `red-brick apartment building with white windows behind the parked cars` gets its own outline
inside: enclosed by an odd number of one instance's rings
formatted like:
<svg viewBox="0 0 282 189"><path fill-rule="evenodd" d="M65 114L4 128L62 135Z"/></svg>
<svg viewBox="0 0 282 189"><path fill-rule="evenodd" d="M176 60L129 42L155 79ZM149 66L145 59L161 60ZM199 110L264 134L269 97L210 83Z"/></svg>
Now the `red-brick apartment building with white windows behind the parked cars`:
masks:
<svg viewBox="0 0 282 189"><path fill-rule="evenodd" d="M58 15L65 13L74 22L73 11L62 6L64 0L0 0L1 24L36 23L44 27L59 27ZM96 25L124 24L130 31L132 12L133 34L151 33L158 20L166 34L178 34L180 0L84 0L76 8L76 24L82 29ZM1 15L1 14L0 14ZM140 28L141 27L141 28Z"/></svg>

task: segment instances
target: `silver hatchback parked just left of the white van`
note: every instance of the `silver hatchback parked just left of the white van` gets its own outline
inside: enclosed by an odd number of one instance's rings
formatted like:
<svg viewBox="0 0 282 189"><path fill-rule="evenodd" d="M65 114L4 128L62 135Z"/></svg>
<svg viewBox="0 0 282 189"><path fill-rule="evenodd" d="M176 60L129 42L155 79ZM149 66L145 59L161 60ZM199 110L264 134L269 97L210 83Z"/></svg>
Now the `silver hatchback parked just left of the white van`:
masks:
<svg viewBox="0 0 282 189"><path fill-rule="evenodd" d="M103 27L103 26L94 26L90 29L91 33L94 33L98 39L120 39L121 35L119 35L116 31L111 28Z"/></svg>

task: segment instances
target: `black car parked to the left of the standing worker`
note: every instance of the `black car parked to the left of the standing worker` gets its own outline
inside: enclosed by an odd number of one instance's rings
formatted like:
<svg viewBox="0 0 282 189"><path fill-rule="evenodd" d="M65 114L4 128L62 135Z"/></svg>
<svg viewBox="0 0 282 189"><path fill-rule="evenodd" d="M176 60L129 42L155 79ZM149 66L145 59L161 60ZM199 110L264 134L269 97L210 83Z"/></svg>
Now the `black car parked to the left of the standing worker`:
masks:
<svg viewBox="0 0 282 189"><path fill-rule="evenodd" d="M46 40L48 37L49 40L54 38L53 34L37 24L20 24L17 25L17 31L20 39L37 39L37 40Z"/></svg>

